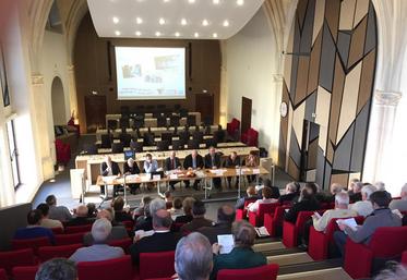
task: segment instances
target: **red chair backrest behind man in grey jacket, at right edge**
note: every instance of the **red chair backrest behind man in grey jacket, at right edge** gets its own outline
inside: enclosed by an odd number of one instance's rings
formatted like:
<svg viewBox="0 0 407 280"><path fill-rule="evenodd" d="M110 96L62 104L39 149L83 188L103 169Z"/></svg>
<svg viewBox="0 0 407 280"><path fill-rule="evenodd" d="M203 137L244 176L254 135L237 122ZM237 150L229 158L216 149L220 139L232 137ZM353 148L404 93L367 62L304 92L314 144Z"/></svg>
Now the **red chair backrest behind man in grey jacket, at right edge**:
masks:
<svg viewBox="0 0 407 280"><path fill-rule="evenodd" d="M383 242L385 241L385 242ZM407 248L407 227L382 227L369 243L375 257L395 257Z"/></svg>

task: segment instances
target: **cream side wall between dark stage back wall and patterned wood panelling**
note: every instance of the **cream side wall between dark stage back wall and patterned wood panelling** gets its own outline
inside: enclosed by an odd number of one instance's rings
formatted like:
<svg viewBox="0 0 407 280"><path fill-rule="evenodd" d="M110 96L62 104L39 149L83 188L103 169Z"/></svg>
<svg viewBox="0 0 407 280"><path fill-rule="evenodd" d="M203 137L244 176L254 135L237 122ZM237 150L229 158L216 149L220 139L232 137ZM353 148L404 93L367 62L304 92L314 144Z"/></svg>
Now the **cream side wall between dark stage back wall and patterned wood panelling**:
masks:
<svg viewBox="0 0 407 280"><path fill-rule="evenodd" d="M224 42L223 83L227 84L227 120L241 119L242 96L252 99L252 127L260 132L259 145L277 160L282 92L274 82L279 63L274 38L265 12L260 9L243 29Z"/></svg>

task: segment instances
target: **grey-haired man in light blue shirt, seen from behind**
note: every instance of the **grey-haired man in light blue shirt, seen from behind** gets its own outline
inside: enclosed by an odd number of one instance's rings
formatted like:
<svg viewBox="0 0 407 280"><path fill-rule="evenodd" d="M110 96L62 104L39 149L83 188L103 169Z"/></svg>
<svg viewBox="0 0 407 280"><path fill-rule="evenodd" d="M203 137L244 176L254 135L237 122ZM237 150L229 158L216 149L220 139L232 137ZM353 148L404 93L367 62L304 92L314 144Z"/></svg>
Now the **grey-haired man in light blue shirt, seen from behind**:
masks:
<svg viewBox="0 0 407 280"><path fill-rule="evenodd" d="M111 222L108 219L97 219L92 226L94 244L76 249L69 259L77 264L81 261L99 261L122 257L124 252L121 247L107 245L111 228Z"/></svg>

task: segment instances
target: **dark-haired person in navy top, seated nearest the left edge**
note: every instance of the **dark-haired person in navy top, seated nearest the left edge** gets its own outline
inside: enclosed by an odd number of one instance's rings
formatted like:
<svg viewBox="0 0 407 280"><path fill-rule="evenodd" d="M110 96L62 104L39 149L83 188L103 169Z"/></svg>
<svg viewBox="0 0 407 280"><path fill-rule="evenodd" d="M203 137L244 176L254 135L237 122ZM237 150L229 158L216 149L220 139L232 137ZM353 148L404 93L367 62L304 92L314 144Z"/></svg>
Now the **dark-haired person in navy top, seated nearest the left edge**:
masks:
<svg viewBox="0 0 407 280"><path fill-rule="evenodd" d="M28 240L28 239L38 239L38 238L48 238L50 243L55 243L53 233L50 229L40 227L43 214L40 210L31 210L27 214L27 223L26 228L17 229L14 233L15 240Z"/></svg>

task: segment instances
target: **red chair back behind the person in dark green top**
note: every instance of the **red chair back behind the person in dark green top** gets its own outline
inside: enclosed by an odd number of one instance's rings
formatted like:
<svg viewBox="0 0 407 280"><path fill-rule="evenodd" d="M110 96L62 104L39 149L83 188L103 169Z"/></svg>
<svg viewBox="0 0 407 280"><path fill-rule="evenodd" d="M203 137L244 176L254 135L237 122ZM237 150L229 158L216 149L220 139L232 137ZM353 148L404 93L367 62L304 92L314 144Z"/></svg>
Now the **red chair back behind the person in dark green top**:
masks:
<svg viewBox="0 0 407 280"><path fill-rule="evenodd" d="M247 269L220 269L217 280L275 280L277 279L278 265L270 264Z"/></svg>

